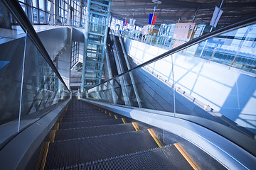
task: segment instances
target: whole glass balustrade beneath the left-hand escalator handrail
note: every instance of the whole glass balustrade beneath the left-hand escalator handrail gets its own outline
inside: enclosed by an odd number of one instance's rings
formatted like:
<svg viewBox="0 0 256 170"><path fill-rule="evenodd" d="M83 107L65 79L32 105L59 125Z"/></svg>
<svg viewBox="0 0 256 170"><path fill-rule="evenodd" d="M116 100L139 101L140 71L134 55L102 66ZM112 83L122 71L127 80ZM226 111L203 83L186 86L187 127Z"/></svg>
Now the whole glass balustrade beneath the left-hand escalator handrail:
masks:
<svg viewBox="0 0 256 170"><path fill-rule="evenodd" d="M1 17L11 15L1 3ZM11 16L14 18L14 16ZM70 98L61 77L26 30L0 26L0 147L9 137Z"/></svg>

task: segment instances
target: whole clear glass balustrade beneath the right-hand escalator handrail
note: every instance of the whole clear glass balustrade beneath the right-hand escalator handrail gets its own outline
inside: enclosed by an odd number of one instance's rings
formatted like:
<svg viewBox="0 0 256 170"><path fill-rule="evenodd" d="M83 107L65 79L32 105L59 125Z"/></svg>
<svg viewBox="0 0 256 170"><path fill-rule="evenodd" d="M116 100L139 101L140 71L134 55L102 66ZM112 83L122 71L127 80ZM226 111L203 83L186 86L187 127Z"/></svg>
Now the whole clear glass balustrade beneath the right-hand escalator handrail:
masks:
<svg viewBox="0 0 256 170"><path fill-rule="evenodd" d="M216 35L95 86L82 96L125 106L138 107L138 103L142 103L142 108L175 113L177 117L199 117L202 123L210 120L254 139L255 26ZM154 49L138 55L144 57L139 64L156 57ZM130 47L127 52L132 54L130 50L136 52L142 50L142 46ZM130 60L130 65L136 67L137 62ZM134 83L130 81L130 74L134 75Z"/></svg>

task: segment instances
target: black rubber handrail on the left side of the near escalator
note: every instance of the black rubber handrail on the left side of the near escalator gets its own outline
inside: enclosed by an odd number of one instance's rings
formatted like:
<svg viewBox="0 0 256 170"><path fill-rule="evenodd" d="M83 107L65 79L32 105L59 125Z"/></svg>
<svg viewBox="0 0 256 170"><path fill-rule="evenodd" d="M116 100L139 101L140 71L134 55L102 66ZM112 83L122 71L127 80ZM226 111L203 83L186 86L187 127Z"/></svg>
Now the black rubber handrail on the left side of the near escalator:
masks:
<svg viewBox="0 0 256 170"><path fill-rule="evenodd" d="M43 46L43 43L41 42L40 38L38 37L36 30L34 30L33 26L31 25L31 22L28 20L28 17L26 16L26 13L23 11L23 8L21 8L20 4L16 0L1 0L7 8L11 11L11 13L16 18L18 24L21 26L21 28L30 35L31 41L34 45L36 45L36 48L39 52L41 52L41 55L46 60L46 62L49 64L50 68L53 69L53 72L57 75L57 77L60 79L60 81L64 84L64 86L68 89L68 86L63 81L62 77L60 76L60 73L56 69L55 65L53 64L53 61L50 59L50 55L48 54L46 48ZM70 90L68 89L70 92Z"/></svg>

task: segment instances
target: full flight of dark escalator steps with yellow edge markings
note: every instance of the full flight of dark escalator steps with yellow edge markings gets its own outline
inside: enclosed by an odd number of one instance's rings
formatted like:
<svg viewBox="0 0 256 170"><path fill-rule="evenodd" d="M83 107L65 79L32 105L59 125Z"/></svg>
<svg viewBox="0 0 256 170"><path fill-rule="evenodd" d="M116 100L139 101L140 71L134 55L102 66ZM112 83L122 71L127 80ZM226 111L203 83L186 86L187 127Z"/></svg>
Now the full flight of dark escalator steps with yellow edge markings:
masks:
<svg viewBox="0 0 256 170"><path fill-rule="evenodd" d="M178 143L163 145L153 129L74 98L40 160L38 169L198 169Z"/></svg>

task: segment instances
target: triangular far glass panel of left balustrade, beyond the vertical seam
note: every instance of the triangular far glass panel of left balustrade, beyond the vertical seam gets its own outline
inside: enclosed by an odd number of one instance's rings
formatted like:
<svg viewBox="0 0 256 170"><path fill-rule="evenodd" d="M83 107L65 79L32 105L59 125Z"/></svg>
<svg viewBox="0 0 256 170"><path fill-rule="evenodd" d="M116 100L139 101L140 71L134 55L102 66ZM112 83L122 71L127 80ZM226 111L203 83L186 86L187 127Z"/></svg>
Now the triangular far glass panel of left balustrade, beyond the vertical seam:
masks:
<svg viewBox="0 0 256 170"><path fill-rule="evenodd" d="M68 89L53 72L28 36L23 78L21 128L46 112L50 106L69 98Z"/></svg>

